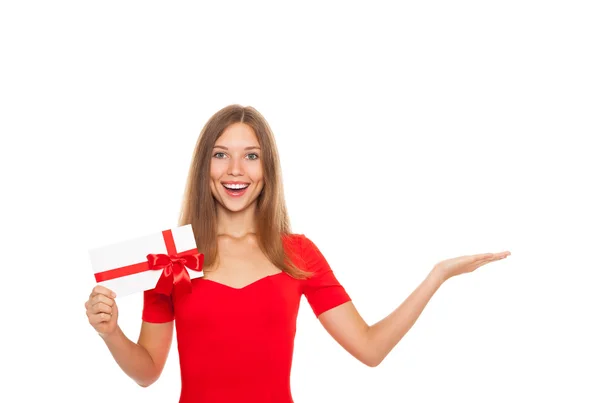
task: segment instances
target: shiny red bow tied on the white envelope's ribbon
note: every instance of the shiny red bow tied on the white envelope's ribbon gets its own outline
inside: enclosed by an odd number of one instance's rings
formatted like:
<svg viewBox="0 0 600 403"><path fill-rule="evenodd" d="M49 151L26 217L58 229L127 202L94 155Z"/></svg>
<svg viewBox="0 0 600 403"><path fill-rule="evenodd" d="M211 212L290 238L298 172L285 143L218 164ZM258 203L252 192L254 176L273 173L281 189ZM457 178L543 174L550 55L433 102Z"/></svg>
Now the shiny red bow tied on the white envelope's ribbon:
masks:
<svg viewBox="0 0 600 403"><path fill-rule="evenodd" d="M202 271L204 263L204 255L201 253L184 256L151 253L147 258L150 270L163 271L158 283L156 283L155 290L165 295L171 295L173 287L175 287L177 293L191 292L192 280L186 267L191 270Z"/></svg>

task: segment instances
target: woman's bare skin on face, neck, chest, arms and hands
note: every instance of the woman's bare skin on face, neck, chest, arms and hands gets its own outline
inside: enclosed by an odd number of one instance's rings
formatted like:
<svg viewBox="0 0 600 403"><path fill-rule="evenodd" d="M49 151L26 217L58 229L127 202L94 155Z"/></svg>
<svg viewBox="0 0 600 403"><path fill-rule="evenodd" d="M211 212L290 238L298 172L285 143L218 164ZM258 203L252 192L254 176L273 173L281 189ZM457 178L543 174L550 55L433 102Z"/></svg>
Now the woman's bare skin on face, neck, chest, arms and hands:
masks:
<svg viewBox="0 0 600 403"><path fill-rule="evenodd" d="M229 126L215 143L211 160L211 192L217 201L219 270L205 268L205 279L241 288L264 276L281 272L262 254L255 235L256 199L263 188L258 139L243 124ZM224 181L249 183L242 197L225 193ZM379 365L411 329L435 292L448 279L505 259L510 252L460 256L437 263L404 302L379 322L367 324L349 301L319 315L326 331L348 353L367 366ZM249 263L250 262L250 263ZM160 376L173 339L173 322L142 322L137 343L118 326L116 295L102 286L93 288L85 302L89 323L106 343L121 369L140 386Z"/></svg>

